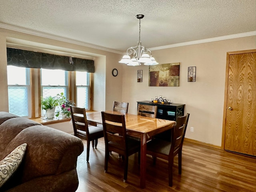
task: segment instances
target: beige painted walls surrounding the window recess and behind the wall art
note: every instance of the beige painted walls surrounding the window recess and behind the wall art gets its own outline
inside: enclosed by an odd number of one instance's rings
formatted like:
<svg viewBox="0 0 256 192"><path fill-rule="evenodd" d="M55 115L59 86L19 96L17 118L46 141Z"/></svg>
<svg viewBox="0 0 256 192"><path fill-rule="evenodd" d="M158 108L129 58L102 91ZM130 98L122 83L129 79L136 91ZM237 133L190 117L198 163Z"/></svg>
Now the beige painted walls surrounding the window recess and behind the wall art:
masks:
<svg viewBox="0 0 256 192"><path fill-rule="evenodd" d="M186 138L217 146L222 139L226 53L256 48L256 36L249 36L155 50L152 53L160 64L180 62L180 86L149 87L148 66L119 64L119 54L0 28L0 111L8 111L6 42L9 45L26 41L34 50L42 46L42 50L49 52L72 52L94 58L94 110L109 110L113 100L118 100L129 102L128 112L136 114L137 101L163 95L174 103L186 104L185 113L190 113ZM196 66L196 82L187 82L189 66ZM113 68L118 69L116 77L112 76ZM143 70L142 83L137 82L137 70ZM191 126L194 132L190 132Z"/></svg>

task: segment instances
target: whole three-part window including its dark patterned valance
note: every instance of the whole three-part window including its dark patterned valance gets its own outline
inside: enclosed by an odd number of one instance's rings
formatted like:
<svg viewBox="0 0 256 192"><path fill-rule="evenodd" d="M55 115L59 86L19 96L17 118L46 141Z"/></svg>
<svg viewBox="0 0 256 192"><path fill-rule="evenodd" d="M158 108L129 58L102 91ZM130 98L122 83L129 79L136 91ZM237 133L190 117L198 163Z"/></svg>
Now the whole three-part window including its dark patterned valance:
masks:
<svg viewBox="0 0 256 192"><path fill-rule="evenodd" d="M93 110L94 60L7 48L7 68L9 112L13 114L41 117L45 113L41 98L61 93L76 106Z"/></svg>

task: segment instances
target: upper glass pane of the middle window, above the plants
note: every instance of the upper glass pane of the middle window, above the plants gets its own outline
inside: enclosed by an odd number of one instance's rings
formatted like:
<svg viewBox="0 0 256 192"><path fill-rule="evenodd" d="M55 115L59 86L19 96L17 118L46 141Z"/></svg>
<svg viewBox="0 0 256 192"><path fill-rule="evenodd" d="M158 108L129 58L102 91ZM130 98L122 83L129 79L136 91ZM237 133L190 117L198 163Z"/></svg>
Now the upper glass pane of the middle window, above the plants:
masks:
<svg viewBox="0 0 256 192"><path fill-rule="evenodd" d="M52 69L41 69L41 84L52 85L52 86L66 86L66 71L63 70L52 70Z"/></svg>

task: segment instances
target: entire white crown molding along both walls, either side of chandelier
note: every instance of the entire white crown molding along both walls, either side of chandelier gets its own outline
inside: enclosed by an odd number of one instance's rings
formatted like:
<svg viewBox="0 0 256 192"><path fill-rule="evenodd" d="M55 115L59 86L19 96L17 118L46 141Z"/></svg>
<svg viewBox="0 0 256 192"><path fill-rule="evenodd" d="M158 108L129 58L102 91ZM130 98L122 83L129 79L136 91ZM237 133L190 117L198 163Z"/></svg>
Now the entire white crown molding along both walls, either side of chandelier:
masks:
<svg viewBox="0 0 256 192"><path fill-rule="evenodd" d="M112 53L116 53L116 54L124 54L123 52L120 52L120 51L116 51L116 50L112 50L112 49L108 49L108 48L104 48L104 47L100 47L100 46L96 46L96 45L92 45L92 44L87 44L84 42L71 40L68 38L63 38L63 37L59 37L59 36L55 36L55 35L50 35L50 34L46 34L46 33L42 33L42 32L36 32L33 30L28 30L28 29L11 26L11 25L7 25L7 24L0 23L0 28L14 30L17 32L22 32L22 33L40 36L40 37L44 37L44 38L49 38L49 39L53 39L53 40L58 40L58 41L62 41L62 42L72 43L72 44L76 44L76 45L80 45L80 46L86 46L86 47L90 47L90 48L94 48L94 49L98 49L98 50L102 50L102 51L107 51L107 52L112 52ZM166 46L152 47L149 49L150 50L160 50L160 49L174 48L174 47L180 47L180 46L186 46L186 45L207 43L207 42L227 40L227 39L240 38L240 37L246 37L246 36L254 36L254 35L256 35L256 31L228 35L228 36L221 36L221 37L216 37L216 38L203 39L203 40L189 41L189 42L171 44L171 45L166 45Z"/></svg>

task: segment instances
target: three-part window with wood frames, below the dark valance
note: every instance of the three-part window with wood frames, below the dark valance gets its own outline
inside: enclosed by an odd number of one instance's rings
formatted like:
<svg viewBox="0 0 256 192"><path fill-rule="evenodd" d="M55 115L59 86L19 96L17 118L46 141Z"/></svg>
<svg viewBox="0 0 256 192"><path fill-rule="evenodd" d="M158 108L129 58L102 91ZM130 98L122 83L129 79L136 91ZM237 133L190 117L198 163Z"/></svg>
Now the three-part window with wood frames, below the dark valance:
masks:
<svg viewBox="0 0 256 192"><path fill-rule="evenodd" d="M38 74L37 71L40 71L40 73ZM74 74L76 74L75 81L73 80L70 83L69 76ZM56 96L61 92L64 93L66 98L74 100L76 106L84 107L86 110L92 110L90 108L90 73L88 72L68 72L48 69L30 70L30 68L8 65L7 76L9 112L12 114L28 118L44 116L45 111L41 111L42 109L39 108L41 96ZM34 78L31 78L32 76ZM39 86L41 85L41 87L38 88L39 90L33 88L37 86L36 82L33 82L36 76L40 77ZM30 84L30 82L33 83ZM76 96L76 98L69 98L69 96ZM32 97L39 101L39 105L36 104L35 106L35 103L32 103ZM37 111L41 111L41 115Z"/></svg>

